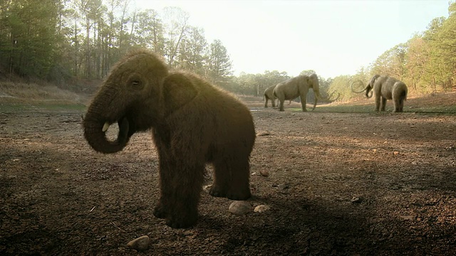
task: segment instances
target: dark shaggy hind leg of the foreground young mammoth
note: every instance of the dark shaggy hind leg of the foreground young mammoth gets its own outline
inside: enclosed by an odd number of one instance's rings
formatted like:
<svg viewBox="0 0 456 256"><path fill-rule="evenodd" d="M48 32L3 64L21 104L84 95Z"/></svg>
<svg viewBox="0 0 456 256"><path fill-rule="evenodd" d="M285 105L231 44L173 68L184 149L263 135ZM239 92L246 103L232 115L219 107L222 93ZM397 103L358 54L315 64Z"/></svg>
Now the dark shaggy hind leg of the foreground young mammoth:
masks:
<svg viewBox="0 0 456 256"><path fill-rule="evenodd" d="M246 200L251 196L249 187L249 158L227 157L214 161L214 183L211 196Z"/></svg>

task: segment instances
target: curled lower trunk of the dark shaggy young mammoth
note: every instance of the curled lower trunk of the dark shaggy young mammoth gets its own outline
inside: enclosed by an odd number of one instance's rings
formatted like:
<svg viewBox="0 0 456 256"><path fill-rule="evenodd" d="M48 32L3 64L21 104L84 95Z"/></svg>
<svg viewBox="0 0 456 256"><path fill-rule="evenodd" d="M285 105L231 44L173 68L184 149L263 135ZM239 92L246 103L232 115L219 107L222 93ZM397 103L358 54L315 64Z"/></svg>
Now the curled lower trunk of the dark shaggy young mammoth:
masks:
<svg viewBox="0 0 456 256"><path fill-rule="evenodd" d="M122 150L128 142L128 120L123 118L118 121L119 133L114 141L106 137L107 124L100 114L91 112L89 109L83 122L84 137L96 151L105 154L115 153Z"/></svg>

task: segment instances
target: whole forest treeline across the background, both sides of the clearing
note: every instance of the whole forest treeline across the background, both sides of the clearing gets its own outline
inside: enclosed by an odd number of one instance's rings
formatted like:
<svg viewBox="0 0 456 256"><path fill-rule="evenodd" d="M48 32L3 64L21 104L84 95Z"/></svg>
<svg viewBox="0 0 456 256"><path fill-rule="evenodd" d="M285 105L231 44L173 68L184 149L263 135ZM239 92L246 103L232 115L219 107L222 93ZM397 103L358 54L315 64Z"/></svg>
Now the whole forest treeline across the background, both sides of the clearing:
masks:
<svg viewBox="0 0 456 256"><path fill-rule="evenodd" d="M338 92L340 100L360 97L351 92L351 82L366 84L376 73L403 80L411 93L452 90L456 4L448 11L447 18L434 18L426 31L385 51L356 74L319 76L321 92ZM66 87L69 81L102 79L129 50L149 48L172 68L190 70L244 95L262 95L266 87L290 78L277 70L232 75L222 41L208 42L204 29L192 26L189 18L177 7L135 9L133 0L0 0L0 75ZM309 73L314 70L301 72Z"/></svg>

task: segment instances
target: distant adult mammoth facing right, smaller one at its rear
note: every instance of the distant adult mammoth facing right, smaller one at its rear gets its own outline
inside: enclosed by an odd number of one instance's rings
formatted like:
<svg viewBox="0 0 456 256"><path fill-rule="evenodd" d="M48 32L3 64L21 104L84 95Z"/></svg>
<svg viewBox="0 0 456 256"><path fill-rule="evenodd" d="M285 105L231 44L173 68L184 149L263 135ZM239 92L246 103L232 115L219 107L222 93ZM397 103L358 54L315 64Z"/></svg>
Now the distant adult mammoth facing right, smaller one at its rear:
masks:
<svg viewBox="0 0 456 256"><path fill-rule="evenodd" d="M279 99L279 111L284 111L285 100L293 100L296 97L301 97L301 109L303 112L306 112L307 92L309 92L309 88L312 88L315 92L313 111L315 110L317 99L323 99L320 95L318 76L316 74L298 75L295 78L279 82L274 88L274 97Z"/></svg>

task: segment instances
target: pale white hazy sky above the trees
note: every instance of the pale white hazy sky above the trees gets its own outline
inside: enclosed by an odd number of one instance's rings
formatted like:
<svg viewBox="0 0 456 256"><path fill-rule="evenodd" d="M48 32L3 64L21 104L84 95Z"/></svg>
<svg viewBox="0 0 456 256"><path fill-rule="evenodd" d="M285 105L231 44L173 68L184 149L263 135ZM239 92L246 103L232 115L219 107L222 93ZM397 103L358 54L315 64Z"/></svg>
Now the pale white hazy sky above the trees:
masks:
<svg viewBox="0 0 456 256"><path fill-rule="evenodd" d="M208 43L227 48L234 75L315 70L323 78L362 66L448 16L448 0L135 0L139 9L178 6Z"/></svg>

